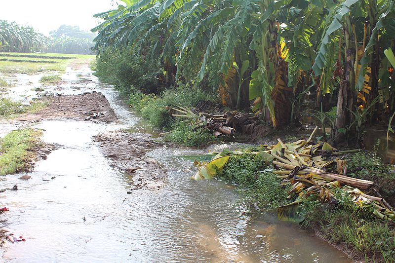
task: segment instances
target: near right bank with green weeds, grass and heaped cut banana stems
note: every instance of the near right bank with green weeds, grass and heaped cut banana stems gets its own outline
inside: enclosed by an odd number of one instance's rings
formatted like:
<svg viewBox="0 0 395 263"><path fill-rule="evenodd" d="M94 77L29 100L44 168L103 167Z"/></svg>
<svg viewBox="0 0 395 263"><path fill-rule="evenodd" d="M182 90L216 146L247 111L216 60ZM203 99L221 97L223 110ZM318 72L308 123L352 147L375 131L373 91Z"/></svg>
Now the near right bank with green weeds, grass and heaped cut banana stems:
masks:
<svg viewBox="0 0 395 263"><path fill-rule="evenodd" d="M311 139L279 140L275 146L205 155L197 166L195 179L218 176L237 184L258 208L277 210L279 220L315 230L356 260L395 262L393 188L388 184L394 176L370 153L344 154ZM356 178L363 168L369 173L364 178L373 181Z"/></svg>

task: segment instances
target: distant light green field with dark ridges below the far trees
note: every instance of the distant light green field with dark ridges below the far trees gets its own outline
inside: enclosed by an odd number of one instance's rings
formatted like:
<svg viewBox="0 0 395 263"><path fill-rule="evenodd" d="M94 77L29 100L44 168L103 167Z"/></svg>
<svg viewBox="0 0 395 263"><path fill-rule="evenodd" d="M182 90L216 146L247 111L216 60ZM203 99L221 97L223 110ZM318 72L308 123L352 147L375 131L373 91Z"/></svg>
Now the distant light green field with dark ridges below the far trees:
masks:
<svg viewBox="0 0 395 263"><path fill-rule="evenodd" d="M0 53L0 73L35 74L45 71L64 72L67 65L82 64L94 60L94 55L59 53Z"/></svg>

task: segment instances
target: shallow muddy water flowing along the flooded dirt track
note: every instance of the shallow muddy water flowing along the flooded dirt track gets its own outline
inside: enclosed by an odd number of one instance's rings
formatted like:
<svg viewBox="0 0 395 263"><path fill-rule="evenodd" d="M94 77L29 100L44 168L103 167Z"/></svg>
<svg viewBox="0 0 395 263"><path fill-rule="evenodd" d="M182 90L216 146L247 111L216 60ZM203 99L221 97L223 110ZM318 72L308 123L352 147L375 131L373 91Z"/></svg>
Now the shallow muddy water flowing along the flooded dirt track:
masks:
<svg viewBox="0 0 395 263"><path fill-rule="evenodd" d="M132 179L110 165L92 136L123 128L156 131L130 112L116 91L92 79L90 88L105 94L119 122L35 125L44 129L43 141L62 147L28 173L29 181L18 180L20 174L0 181L0 188L15 183L19 188L1 193L1 203L10 208L1 221L27 239L7 242L3 261L351 262L298 225L278 222L271 214L245 213L234 186L191 180L192 162L176 156L202 150L153 150L150 157L168 171L166 186L127 194Z"/></svg>

